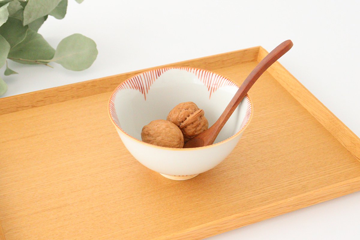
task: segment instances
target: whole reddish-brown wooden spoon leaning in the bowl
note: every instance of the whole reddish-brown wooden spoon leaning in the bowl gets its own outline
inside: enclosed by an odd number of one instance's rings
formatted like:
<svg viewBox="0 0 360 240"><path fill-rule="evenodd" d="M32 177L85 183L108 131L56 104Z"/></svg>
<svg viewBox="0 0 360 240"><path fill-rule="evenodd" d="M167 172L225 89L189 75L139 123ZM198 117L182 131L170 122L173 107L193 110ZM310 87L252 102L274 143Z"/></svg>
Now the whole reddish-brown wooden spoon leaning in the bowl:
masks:
<svg viewBox="0 0 360 240"><path fill-rule="evenodd" d="M289 51L292 46L292 41L286 40L279 46L275 47L275 49L269 54L267 54L267 56L262 59L259 64L257 64L257 66L245 79L245 81L240 86L239 90L235 93L233 99L231 99L230 103L228 104L224 112L221 114L219 119L217 119L217 121L210 128L208 128L208 130L200 133L199 135L193 137L188 142L186 142L184 148L197 148L213 144L222 127L224 127L231 114L233 114L239 103L246 96L251 86L256 82L256 80L258 80L261 74L264 73L266 69L271 66L271 64L275 63L276 60L278 60L282 55Z"/></svg>

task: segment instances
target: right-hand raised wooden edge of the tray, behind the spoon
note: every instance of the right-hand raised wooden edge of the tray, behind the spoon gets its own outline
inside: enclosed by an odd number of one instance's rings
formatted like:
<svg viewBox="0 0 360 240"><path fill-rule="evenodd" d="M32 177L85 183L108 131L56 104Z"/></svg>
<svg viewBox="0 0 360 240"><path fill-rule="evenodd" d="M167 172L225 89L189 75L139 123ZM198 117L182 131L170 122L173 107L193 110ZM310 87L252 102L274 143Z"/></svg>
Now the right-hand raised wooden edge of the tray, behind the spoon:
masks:
<svg viewBox="0 0 360 240"><path fill-rule="evenodd" d="M267 55L259 48L258 61ZM324 104L311 94L279 62L267 70L276 80L314 116L341 144L360 161L360 139L343 122L341 122Z"/></svg>

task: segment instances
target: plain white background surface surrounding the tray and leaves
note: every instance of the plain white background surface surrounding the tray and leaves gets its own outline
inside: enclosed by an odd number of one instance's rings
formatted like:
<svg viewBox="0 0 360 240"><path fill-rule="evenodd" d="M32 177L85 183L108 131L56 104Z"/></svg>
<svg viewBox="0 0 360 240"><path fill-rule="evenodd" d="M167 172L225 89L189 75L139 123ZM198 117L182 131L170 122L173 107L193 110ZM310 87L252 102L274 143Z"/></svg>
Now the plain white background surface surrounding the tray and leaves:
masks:
<svg viewBox="0 0 360 240"><path fill-rule="evenodd" d="M286 39L280 62L360 136L360 1L69 0L62 20L39 32L56 47L82 33L99 50L82 72L53 64L9 62L11 96ZM4 69L1 70L3 72ZM360 239L360 192L211 237L220 239Z"/></svg>

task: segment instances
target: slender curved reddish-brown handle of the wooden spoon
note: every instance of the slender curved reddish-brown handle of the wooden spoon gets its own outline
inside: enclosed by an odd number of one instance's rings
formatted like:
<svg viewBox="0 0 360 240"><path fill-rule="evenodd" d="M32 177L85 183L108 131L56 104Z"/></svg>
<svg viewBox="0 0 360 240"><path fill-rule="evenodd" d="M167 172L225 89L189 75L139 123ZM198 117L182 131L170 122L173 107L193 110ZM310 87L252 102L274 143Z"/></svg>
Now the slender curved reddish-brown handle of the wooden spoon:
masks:
<svg viewBox="0 0 360 240"><path fill-rule="evenodd" d="M221 114L219 119L217 119L217 121L213 124L213 126L211 126L211 128L216 128L216 132L213 135L212 137L213 139L211 139L212 142L210 144L212 144L215 141L222 127L224 127L225 123L228 121L231 114L238 107L239 103L243 100L249 89L261 76L261 74L263 74L266 71L266 69L271 66L271 64L275 63L276 60L278 60L282 55L284 55L287 51L289 51L292 46L293 43L291 40L284 41L282 44L275 47L273 51L267 54L267 56L264 59L262 59L259 64L257 64L257 66L252 70L252 72L249 74L249 76L240 86L239 90L235 93L233 99L231 99L230 103L228 104L224 112Z"/></svg>

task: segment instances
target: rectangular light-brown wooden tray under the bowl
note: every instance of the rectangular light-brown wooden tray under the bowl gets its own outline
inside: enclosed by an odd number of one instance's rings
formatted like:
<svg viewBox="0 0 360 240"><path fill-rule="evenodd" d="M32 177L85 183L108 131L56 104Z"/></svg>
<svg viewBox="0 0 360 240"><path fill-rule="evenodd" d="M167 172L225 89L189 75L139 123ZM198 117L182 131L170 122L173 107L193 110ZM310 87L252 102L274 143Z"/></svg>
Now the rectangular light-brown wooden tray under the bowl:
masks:
<svg viewBox="0 0 360 240"><path fill-rule="evenodd" d="M266 54L167 66L241 83ZM254 117L224 162L188 181L145 168L107 114L141 71L0 99L0 239L203 239L360 190L359 138L279 63L249 92Z"/></svg>

